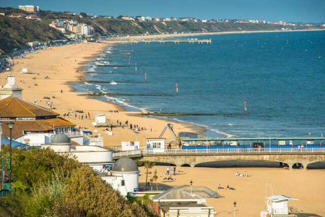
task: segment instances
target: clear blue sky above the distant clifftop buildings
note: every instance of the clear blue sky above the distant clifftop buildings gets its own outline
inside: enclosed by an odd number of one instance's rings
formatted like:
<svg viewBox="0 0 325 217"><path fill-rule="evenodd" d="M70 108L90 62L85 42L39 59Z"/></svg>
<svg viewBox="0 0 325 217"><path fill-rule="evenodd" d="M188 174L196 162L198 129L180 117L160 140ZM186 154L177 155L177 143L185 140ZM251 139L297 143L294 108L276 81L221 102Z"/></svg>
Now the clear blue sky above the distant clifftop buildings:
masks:
<svg viewBox="0 0 325 217"><path fill-rule="evenodd" d="M41 10L91 15L196 17L266 21L325 22L325 0L0 0L0 7L40 6Z"/></svg>

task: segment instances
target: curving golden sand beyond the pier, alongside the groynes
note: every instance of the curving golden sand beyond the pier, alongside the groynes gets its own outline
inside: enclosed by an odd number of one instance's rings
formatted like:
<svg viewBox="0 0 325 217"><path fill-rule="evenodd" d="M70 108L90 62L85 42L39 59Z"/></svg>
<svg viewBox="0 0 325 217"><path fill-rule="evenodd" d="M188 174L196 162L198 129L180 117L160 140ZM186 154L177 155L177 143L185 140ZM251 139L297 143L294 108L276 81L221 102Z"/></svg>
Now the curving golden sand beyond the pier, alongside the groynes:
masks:
<svg viewBox="0 0 325 217"><path fill-rule="evenodd" d="M37 105L49 109L46 99L44 99L44 97L49 97L53 101L52 107L55 108L53 111L59 113L61 117L64 113L72 112L73 115L64 118L75 123L76 128L87 127L87 130L92 132L98 130L98 133L102 134L101 137L104 138L104 146L107 147L120 146L123 141L140 141L140 147L142 148L145 138L157 137L169 122L173 124L176 134L184 131L202 134L206 131L201 127L200 129L188 128L194 126L190 123L180 123L171 119L147 118L139 115L139 112L125 111L125 107L122 105L81 96L82 93L77 92L73 87L73 83L84 76L84 72L80 70L80 68L84 67L82 63L89 61L89 56L98 54L109 44L83 43L49 47L46 50L39 50L38 54L28 54L24 59L14 58L15 66L12 74L16 76L15 83L23 88L22 99L32 103L36 97ZM20 73L21 67L28 67L29 73ZM9 73L1 73L2 85L7 83L6 76ZM45 79L45 77L49 77L49 79ZM52 98L53 96L55 98ZM82 110L84 113L75 113L73 109ZM109 110L118 110L119 112L107 112ZM149 130L143 130L136 134L129 129L116 127L113 128L113 136L109 136L105 133L104 128L95 128L91 125L94 115L98 113L106 113L106 118L113 122L118 120L124 123L128 120L132 125L138 125ZM85 119L86 114L87 119ZM150 127L152 127L152 131L150 131ZM167 139L166 143L179 143L179 140L173 141L169 133L165 133L164 137Z"/></svg>

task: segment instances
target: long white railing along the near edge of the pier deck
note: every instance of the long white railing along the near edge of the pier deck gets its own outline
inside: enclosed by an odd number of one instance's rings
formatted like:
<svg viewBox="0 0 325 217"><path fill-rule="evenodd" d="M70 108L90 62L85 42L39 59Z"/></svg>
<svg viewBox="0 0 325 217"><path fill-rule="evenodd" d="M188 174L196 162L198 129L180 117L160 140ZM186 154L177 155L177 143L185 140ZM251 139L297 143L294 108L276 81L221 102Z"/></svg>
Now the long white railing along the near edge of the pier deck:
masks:
<svg viewBox="0 0 325 217"><path fill-rule="evenodd" d="M313 153L325 152L325 148L216 148L216 149L141 149L142 154L187 153Z"/></svg>

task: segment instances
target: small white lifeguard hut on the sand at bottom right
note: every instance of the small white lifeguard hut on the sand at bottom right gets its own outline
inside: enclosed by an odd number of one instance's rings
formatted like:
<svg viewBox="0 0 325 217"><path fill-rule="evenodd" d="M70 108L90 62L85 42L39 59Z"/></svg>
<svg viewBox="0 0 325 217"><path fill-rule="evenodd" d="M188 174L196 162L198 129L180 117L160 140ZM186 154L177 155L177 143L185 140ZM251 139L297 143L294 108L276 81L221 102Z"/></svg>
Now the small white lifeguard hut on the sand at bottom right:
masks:
<svg viewBox="0 0 325 217"><path fill-rule="evenodd" d="M261 217L297 216L297 209L294 207L288 207L288 200L298 199L286 195L274 195L271 197L266 197L265 199L267 200L267 211L261 211Z"/></svg>

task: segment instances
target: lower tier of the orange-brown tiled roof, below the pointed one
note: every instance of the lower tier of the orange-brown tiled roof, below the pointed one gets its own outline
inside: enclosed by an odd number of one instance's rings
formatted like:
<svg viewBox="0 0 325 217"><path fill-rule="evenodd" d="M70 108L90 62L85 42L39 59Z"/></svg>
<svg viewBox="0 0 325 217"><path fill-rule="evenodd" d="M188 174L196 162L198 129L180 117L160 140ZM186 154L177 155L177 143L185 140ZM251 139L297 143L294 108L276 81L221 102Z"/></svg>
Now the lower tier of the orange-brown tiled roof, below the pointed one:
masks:
<svg viewBox="0 0 325 217"><path fill-rule="evenodd" d="M2 123L3 134L10 137L10 131L6 123L9 120ZM74 123L64 120L62 118L51 118L51 119L41 119L41 120L14 120L15 125L12 129L12 138L16 139L24 135L24 131L53 131L54 127L63 126L76 126Z"/></svg>

